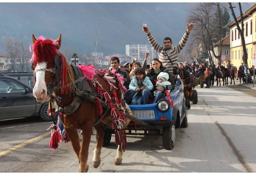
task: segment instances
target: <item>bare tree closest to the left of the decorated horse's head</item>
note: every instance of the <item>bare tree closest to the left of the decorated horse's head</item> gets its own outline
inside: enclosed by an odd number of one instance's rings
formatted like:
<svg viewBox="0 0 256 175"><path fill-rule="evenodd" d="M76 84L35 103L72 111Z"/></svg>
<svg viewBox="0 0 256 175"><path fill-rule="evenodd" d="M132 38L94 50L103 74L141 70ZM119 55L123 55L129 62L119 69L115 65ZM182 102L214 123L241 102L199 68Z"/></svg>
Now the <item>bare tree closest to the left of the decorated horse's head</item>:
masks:
<svg viewBox="0 0 256 175"><path fill-rule="evenodd" d="M21 71L24 72L29 63L29 51L27 45L24 43L23 40L18 42L18 61L20 61L20 68Z"/></svg>

